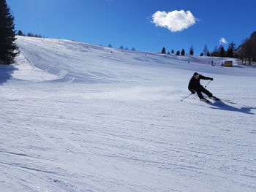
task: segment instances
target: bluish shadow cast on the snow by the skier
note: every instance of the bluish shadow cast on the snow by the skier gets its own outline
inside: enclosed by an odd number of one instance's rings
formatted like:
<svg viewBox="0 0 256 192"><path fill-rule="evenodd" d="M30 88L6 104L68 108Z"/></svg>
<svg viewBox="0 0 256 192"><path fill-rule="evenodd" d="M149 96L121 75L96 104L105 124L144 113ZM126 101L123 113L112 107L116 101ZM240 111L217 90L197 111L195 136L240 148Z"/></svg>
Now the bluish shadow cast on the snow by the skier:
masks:
<svg viewBox="0 0 256 192"><path fill-rule="evenodd" d="M214 103L209 103L211 106L211 109L215 110L226 110L226 111L235 111L235 112L243 112L249 115L255 115L255 113L251 112L252 109L256 109L256 107L241 107L236 108L231 105L226 104L223 101L215 101Z"/></svg>

